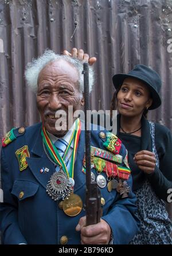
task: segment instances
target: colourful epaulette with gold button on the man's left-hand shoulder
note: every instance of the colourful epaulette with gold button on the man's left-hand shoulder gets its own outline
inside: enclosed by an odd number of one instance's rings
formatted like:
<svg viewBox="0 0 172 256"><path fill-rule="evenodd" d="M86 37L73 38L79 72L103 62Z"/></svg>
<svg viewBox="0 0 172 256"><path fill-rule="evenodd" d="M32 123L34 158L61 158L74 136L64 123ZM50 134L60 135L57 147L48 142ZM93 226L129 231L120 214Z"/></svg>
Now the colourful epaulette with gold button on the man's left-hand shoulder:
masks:
<svg viewBox="0 0 172 256"><path fill-rule="evenodd" d="M20 127L19 129L11 129L8 133L6 133L5 137L2 138L2 146L9 145L12 141L14 141L17 137L23 135L25 133L25 128Z"/></svg>

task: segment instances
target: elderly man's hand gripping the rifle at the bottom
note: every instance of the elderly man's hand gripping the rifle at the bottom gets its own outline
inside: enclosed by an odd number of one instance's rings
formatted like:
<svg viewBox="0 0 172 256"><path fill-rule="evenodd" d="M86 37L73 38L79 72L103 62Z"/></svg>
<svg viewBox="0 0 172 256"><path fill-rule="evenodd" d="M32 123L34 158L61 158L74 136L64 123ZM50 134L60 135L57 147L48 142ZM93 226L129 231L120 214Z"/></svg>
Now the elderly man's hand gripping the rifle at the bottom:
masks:
<svg viewBox="0 0 172 256"><path fill-rule="evenodd" d="M86 225L86 216L82 217L76 226L76 231L81 231L81 244L108 244L111 239L111 228L102 219L94 225Z"/></svg>

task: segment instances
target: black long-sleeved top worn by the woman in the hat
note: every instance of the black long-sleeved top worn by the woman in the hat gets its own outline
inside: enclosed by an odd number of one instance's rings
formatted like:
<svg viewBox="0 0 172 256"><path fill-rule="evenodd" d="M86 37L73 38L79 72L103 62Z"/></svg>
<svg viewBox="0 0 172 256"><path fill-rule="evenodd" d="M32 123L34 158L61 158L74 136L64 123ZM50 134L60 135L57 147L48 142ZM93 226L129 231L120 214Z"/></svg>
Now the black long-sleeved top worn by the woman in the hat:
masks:
<svg viewBox="0 0 172 256"><path fill-rule="evenodd" d="M128 150L128 162L133 178L133 190L139 189L146 178L151 183L159 198L167 201L167 190L172 188L172 137L167 127L155 123L155 147L159 157L159 168L156 166L152 174L144 174L134 160L134 154L140 150L152 151L150 124L142 118L142 137L120 133L120 115L118 115L117 136Z"/></svg>

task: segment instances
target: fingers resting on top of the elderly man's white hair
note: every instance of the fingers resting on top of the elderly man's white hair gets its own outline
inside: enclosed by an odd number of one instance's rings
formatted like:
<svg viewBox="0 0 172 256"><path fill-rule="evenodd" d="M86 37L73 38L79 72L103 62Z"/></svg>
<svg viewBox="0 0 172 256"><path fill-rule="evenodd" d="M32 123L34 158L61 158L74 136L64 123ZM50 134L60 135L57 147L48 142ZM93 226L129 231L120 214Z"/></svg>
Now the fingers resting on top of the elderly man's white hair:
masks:
<svg viewBox="0 0 172 256"><path fill-rule="evenodd" d="M96 57L89 58L89 55L85 54L83 49L77 50L77 48L72 48L71 53L68 52L67 50L64 50L63 54L78 58L80 61L83 61L83 62L88 62L89 65L93 65L93 63L96 62Z"/></svg>

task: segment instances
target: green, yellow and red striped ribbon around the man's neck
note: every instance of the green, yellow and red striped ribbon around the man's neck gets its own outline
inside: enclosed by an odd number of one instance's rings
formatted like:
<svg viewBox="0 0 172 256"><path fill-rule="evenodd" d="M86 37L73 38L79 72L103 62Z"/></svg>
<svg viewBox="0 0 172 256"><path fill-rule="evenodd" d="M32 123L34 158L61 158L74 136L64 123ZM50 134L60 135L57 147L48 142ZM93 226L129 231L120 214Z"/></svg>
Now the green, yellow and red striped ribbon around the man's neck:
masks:
<svg viewBox="0 0 172 256"><path fill-rule="evenodd" d="M56 146L54 146L53 142L50 140L48 134L46 133L45 127L42 124L42 130L41 130L41 135L43 142L46 146L46 149L48 149L48 152L50 156L52 157L53 161L60 165L62 170L67 174L68 178L71 177L73 178L73 170L74 170L74 163L75 163L75 155L77 151L77 145L79 142L79 137L81 133L81 122L79 118L76 119L75 124L74 124L74 129L72 131L71 139L69 141L69 144L67 146L67 149L65 150L64 157L62 158L60 153L58 152ZM67 169L67 166L64 163L65 157L67 156L67 153L69 149L71 148L72 141L74 140L74 146L73 146L73 152L71 156L71 166L69 168L69 171Z"/></svg>

